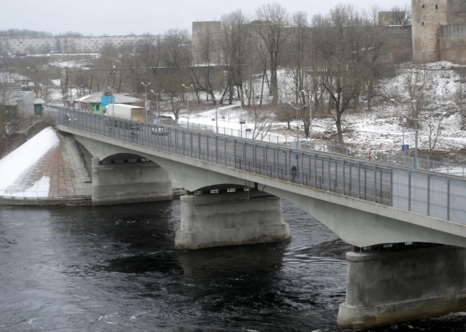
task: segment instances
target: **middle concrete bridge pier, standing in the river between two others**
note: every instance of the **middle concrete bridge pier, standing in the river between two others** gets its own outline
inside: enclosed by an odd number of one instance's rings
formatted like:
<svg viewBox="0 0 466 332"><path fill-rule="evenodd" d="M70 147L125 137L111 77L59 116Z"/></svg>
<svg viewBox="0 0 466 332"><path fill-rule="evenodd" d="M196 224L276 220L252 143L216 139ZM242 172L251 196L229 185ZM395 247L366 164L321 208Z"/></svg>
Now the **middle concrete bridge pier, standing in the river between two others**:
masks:
<svg viewBox="0 0 466 332"><path fill-rule="evenodd" d="M263 195L258 193L258 195ZM181 229L177 249L282 242L291 238L282 218L282 199L251 192L228 195L181 196Z"/></svg>

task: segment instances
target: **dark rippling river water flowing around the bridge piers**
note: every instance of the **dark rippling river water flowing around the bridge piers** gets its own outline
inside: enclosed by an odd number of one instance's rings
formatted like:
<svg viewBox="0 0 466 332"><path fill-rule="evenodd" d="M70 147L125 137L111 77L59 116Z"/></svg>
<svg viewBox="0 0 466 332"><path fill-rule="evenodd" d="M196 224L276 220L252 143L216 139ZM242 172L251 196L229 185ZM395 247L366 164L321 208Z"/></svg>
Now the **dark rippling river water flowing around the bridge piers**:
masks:
<svg viewBox="0 0 466 332"><path fill-rule="evenodd" d="M283 202L292 240L173 249L180 202L0 207L0 331L352 331L349 246ZM378 331L466 331L466 314Z"/></svg>

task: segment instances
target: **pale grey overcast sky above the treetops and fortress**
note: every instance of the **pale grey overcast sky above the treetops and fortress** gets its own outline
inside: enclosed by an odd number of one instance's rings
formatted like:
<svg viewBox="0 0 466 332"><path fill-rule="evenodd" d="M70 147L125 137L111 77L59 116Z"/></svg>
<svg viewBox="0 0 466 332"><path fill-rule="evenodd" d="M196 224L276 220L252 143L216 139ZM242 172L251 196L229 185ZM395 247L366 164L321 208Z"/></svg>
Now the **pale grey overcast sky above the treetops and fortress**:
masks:
<svg viewBox="0 0 466 332"><path fill-rule="evenodd" d="M4 2L0 30L10 28L40 30L53 34L66 31L83 35L129 35L163 33L169 28L187 29L198 20L219 20L222 14L241 9L253 16L258 6L271 3L266 0L0 0ZM370 8L405 6L410 0L292 0L276 1L292 13L306 11L327 13L337 4L353 4ZM232 5L233 4L233 5Z"/></svg>

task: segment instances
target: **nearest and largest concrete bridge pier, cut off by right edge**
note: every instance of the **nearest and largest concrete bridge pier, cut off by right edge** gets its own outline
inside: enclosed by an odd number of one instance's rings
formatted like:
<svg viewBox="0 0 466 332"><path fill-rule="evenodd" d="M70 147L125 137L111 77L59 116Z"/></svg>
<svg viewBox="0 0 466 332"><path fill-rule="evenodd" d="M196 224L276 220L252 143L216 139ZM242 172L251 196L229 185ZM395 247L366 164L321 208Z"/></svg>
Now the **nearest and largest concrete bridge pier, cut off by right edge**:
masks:
<svg viewBox="0 0 466 332"><path fill-rule="evenodd" d="M346 301L337 323L373 328L466 310L466 249L348 252Z"/></svg>

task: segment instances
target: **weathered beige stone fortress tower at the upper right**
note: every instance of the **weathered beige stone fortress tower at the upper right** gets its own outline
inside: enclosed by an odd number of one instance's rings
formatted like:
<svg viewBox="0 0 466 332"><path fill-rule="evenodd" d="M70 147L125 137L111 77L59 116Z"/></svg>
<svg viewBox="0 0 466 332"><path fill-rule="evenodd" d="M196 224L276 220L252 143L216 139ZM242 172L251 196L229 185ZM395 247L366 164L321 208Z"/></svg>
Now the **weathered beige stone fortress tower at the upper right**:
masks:
<svg viewBox="0 0 466 332"><path fill-rule="evenodd" d="M412 61L440 60L440 26L448 24L448 0L412 0Z"/></svg>

